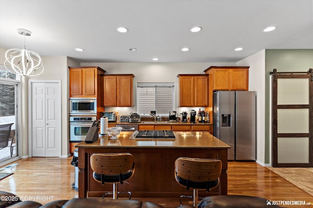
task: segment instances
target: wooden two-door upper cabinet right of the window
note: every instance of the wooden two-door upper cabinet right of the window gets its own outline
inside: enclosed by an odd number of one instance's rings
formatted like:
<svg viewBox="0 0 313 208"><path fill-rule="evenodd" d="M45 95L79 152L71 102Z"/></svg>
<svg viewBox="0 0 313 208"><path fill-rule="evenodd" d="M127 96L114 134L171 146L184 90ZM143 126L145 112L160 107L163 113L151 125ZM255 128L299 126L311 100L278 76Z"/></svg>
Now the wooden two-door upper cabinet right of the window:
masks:
<svg viewBox="0 0 313 208"><path fill-rule="evenodd" d="M179 107L208 105L208 75L178 75Z"/></svg>

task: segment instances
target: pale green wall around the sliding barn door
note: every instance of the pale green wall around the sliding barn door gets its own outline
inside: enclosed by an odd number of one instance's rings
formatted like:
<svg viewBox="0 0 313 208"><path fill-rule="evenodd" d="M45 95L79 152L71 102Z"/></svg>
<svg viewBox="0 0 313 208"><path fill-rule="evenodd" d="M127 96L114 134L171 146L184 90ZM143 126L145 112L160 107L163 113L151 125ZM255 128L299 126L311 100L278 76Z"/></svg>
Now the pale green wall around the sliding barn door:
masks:
<svg viewBox="0 0 313 208"><path fill-rule="evenodd" d="M307 72L313 68L313 49L267 49L265 50L265 163L269 164L269 122L270 113L270 75L273 69L277 72Z"/></svg>

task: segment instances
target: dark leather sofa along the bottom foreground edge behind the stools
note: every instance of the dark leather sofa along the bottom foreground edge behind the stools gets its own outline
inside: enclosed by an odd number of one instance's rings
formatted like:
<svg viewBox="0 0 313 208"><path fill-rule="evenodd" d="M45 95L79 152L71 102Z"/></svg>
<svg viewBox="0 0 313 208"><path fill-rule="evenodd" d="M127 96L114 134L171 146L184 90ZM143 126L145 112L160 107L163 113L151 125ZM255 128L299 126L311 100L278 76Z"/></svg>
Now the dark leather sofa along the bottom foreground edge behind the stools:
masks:
<svg viewBox="0 0 313 208"><path fill-rule="evenodd" d="M268 206L270 202L271 201L265 198L254 196L208 196L201 200L198 208L279 208L279 206L275 205ZM34 201L21 201L18 196L12 193L0 191L0 208L162 208L162 206L151 202L141 202L139 200L112 200L101 198L58 200L42 205ZM193 207L184 205L179 208Z"/></svg>

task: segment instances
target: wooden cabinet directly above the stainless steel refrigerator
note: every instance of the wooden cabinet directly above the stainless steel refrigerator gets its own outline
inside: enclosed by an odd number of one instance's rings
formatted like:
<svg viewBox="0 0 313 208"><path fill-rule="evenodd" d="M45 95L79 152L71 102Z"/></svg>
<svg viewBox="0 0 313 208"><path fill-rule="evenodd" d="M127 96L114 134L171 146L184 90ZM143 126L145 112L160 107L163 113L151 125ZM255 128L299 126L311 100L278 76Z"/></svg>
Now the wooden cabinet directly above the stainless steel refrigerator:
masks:
<svg viewBox="0 0 313 208"><path fill-rule="evenodd" d="M212 90L248 90L247 66L211 66L204 72L212 75Z"/></svg>

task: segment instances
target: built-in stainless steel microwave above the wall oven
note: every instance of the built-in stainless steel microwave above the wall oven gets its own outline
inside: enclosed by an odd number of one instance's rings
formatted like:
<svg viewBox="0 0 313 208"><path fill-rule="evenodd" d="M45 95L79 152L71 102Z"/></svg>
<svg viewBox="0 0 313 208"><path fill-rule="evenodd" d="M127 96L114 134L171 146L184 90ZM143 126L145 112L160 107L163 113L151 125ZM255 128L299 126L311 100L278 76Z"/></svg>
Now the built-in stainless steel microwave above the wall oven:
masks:
<svg viewBox="0 0 313 208"><path fill-rule="evenodd" d="M96 98L69 98L70 114L97 114Z"/></svg>

